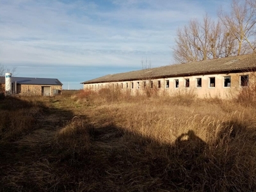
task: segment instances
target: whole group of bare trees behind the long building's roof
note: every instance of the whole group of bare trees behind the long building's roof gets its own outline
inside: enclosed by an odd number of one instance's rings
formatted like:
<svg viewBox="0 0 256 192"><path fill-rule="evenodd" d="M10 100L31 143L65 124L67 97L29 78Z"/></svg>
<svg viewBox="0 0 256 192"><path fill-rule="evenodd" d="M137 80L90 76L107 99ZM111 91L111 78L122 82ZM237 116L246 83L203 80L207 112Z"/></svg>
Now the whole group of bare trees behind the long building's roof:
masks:
<svg viewBox="0 0 256 192"><path fill-rule="evenodd" d="M232 0L229 12L220 8L218 20L205 14L177 29L173 58L176 63L212 60L255 52L256 1Z"/></svg>

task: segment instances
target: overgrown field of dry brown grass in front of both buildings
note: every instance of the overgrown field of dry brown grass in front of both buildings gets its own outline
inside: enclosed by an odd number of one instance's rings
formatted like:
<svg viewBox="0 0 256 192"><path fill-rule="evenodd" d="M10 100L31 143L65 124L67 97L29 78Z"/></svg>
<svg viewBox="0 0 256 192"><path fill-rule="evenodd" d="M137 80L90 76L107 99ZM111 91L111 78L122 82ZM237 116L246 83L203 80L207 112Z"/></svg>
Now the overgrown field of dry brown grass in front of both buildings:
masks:
<svg viewBox="0 0 256 192"><path fill-rule="evenodd" d="M256 191L252 100L0 100L0 191Z"/></svg>

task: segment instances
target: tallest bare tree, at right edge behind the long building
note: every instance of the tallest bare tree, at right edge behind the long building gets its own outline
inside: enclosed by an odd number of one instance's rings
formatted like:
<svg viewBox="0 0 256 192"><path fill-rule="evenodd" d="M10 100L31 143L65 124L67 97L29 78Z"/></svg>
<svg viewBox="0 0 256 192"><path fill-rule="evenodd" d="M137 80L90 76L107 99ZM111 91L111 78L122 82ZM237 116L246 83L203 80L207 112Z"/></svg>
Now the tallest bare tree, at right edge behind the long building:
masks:
<svg viewBox="0 0 256 192"><path fill-rule="evenodd" d="M228 30L228 33L237 41L237 55L255 51L252 36L255 35L256 6L254 0L233 0L230 13L221 8L218 16Z"/></svg>

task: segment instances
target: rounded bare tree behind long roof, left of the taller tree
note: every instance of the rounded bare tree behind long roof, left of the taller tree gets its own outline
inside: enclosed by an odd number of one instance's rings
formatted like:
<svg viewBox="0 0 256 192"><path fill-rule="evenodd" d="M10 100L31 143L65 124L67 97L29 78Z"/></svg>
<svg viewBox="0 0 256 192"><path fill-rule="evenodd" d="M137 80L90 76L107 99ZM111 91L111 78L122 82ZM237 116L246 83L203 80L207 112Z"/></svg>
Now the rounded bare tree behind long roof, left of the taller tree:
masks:
<svg viewBox="0 0 256 192"><path fill-rule="evenodd" d="M208 15L202 23L190 20L188 26L177 30L173 56L179 63L231 56L236 44L228 34L220 21L215 23Z"/></svg>

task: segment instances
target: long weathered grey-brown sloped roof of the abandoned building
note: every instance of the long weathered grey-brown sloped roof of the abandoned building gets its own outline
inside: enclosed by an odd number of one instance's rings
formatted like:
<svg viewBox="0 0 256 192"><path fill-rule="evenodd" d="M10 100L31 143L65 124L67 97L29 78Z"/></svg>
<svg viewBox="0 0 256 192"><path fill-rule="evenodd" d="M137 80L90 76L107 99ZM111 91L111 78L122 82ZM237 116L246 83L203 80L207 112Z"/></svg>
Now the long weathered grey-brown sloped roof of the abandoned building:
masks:
<svg viewBox="0 0 256 192"><path fill-rule="evenodd" d="M120 74L107 75L84 81L81 84L104 83L113 81L131 81L136 79L157 77L179 77L195 74L209 74L218 72L232 72L237 70L250 70L256 68L256 54L220 58L216 60L194 61L190 63L168 65L164 67L148 68L124 72Z"/></svg>

